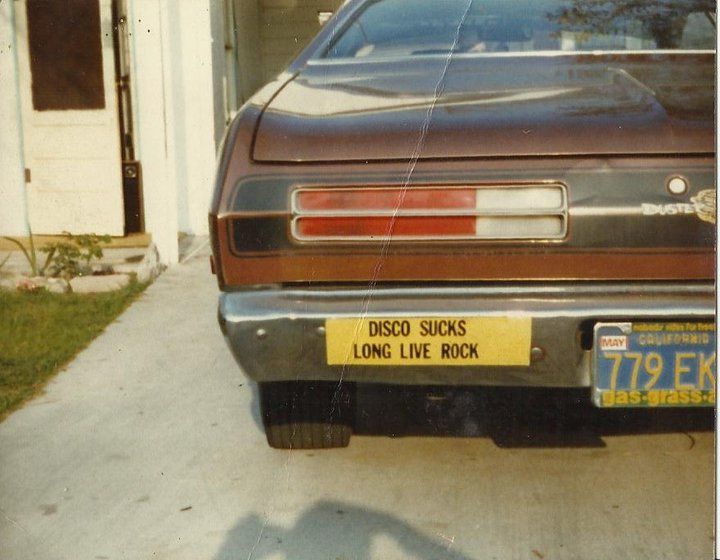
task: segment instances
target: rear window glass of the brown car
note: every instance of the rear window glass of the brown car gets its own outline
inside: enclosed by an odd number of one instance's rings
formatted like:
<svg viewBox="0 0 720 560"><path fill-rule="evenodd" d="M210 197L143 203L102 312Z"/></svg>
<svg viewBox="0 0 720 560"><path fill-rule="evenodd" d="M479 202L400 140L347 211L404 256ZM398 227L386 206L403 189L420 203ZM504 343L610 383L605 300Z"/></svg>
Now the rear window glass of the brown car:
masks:
<svg viewBox="0 0 720 560"><path fill-rule="evenodd" d="M715 0L376 0L324 58L714 50Z"/></svg>

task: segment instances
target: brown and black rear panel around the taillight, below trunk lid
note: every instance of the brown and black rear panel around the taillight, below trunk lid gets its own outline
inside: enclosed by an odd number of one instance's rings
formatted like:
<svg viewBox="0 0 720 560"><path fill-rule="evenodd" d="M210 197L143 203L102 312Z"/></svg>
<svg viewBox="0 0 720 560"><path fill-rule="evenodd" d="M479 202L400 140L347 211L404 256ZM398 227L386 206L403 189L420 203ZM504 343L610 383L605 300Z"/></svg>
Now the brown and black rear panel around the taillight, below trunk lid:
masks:
<svg viewBox="0 0 720 560"><path fill-rule="evenodd" d="M228 286L278 282L710 279L714 225L691 200L714 187L714 160L535 158L421 161L408 189L427 184L567 186L569 230L554 242L322 243L293 239L291 194L306 185L403 185L397 163L269 165L233 162L216 227ZM237 167L235 167L237 166ZM690 192L666 188L681 175ZM628 185L632 185L629 187ZM690 213L666 214L674 205ZM669 210L668 210L669 209ZM378 262L382 261L382 266Z"/></svg>

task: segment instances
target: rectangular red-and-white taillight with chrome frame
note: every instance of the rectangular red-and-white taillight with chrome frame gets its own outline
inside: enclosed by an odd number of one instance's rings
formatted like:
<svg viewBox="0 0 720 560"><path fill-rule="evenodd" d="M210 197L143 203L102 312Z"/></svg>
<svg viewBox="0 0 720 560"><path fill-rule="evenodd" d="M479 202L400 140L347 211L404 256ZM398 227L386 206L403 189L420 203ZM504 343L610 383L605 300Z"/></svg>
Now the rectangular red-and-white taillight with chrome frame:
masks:
<svg viewBox="0 0 720 560"><path fill-rule="evenodd" d="M449 187L304 187L292 198L303 241L562 239L559 184Z"/></svg>

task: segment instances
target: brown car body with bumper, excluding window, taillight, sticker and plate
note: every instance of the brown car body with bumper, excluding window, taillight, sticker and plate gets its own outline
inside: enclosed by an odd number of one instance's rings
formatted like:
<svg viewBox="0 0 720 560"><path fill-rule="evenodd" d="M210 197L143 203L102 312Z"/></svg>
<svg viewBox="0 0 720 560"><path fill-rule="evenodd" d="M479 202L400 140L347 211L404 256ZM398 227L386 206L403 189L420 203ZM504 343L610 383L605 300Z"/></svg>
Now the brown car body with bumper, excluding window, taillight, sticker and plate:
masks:
<svg viewBox="0 0 720 560"><path fill-rule="evenodd" d="M318 58L364 4L344 4L226 134L219 319L252 379L587 387L595 323L714 318L714 52ZM562 186L562 237L293 228L300 189L528 185ZM324 352L330 318L508 313L531 318L542 360L345 367Z"/></svg>

